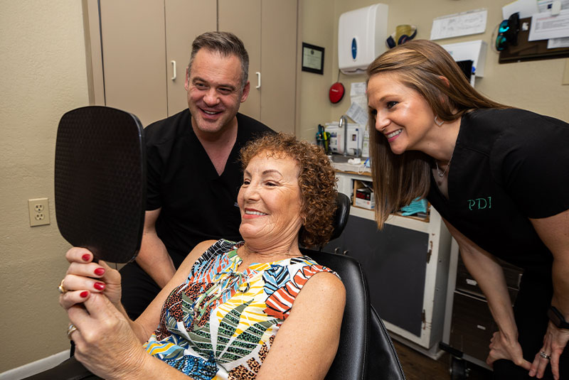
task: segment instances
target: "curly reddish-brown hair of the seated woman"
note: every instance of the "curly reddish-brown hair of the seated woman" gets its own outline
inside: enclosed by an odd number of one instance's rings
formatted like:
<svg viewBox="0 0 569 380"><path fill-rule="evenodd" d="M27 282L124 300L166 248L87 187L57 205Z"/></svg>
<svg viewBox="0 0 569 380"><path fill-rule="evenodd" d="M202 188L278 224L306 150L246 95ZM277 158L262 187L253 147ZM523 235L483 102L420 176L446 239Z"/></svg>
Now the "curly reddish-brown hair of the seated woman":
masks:
<svg viewBox="0 0 569 380"><path fill-rule="evenodd" d="M299 231L302 246L324 246L334 232L336 212L336 175L321 148L308 141L298 141L292 134L266 134L247 143L240 151L243 170L253 157L289 157L299 168L298 185L304 223Z"/></svg>

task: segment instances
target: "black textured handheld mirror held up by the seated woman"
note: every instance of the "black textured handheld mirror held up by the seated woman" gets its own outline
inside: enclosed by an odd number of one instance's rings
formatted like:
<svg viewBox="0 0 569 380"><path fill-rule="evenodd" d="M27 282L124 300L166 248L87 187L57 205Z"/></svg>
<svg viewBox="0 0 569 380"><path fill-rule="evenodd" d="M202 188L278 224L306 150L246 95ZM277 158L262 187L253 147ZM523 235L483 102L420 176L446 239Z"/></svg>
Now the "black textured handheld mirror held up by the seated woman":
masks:
<svg viewBox="0 0 569 380"><path fill-rule="evenodd" d="M138 254L146 205L146 150L137 116L110 107L63 115L55 143L55 215L61 235L97 260Z"/></svg>

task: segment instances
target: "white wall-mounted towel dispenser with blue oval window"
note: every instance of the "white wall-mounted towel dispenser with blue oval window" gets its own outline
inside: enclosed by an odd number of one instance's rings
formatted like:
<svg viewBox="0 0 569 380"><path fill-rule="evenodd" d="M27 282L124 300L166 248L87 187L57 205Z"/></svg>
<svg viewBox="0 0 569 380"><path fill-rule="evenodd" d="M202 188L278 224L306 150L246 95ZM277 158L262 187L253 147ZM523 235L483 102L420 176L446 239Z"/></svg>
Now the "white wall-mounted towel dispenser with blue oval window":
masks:
<svg viewBox="0 0 569 380"><path fill-rule="evenodd" d="M338 63L344 74L360 74L386 49L389 6L373 4L342 13L338 25Z"/></svg>

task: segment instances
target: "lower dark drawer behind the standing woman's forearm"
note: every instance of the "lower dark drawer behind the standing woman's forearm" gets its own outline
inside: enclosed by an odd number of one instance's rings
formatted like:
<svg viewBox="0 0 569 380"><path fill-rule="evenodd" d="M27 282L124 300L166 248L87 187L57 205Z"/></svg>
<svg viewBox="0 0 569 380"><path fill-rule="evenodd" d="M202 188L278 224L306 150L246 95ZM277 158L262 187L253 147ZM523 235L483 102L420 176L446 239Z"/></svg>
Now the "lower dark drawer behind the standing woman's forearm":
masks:
<svg viewBox="0 0 569 380"><path fill-rule="evenodd" d="M486 361L490 339L498 331L486 300L454 292L450 329L452 348Z"/></svg>

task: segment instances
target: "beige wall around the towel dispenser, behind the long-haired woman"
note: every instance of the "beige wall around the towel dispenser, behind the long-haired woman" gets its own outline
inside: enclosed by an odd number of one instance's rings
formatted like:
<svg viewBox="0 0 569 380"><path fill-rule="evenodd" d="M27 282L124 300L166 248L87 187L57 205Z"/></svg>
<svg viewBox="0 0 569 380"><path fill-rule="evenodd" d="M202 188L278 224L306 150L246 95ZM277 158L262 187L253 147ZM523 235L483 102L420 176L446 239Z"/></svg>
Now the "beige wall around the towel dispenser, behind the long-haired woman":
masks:
<svg viewBox="0 0 569 380"><path fill-rule="evenodd" d="M331 104L328 91L338 77L338 20L341 13L381 2L389 5L388 33L395 26L409 23L418 27L417 38L430 38L432 19L473 9L488 9L486 33L437 40L437 43L457 43L484 40L488 43L484 77L477 78L476 88L504 104L569 121L569 85L561 85L567 59L538 60L499 65L498 53L492 50L496 26L502 20L501 7L511 0L304 0L302 6L302 40L326 48L324 75L302 72L299 89L299 129L297 135L314 140L317 125L337 121L350 106L352 82L363 82L365 75L340 75L346 95L338 104ZM333 20L330 20L333 17ZM495 36L494 36L495 38Z"/></svg>

